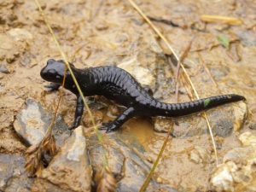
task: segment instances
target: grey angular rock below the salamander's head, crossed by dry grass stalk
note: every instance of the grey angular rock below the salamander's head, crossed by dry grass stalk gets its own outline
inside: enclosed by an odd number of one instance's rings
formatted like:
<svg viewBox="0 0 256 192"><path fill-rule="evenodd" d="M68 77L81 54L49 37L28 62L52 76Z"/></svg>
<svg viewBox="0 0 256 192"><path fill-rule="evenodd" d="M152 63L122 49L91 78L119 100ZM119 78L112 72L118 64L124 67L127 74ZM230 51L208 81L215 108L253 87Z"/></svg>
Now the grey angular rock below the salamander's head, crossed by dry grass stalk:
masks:
<svg viewBox="0 0 256 192"><path fill-rule="evenodd" d="M40 103L28 99L26 107L21 109L16 116L15 131L26 144L37 144L43 139L51 119L52 114L44 110ZM54 136L58 145L62 145L69 137L70 133L67 128L61 116L58 116L54 127Z"/></svg>

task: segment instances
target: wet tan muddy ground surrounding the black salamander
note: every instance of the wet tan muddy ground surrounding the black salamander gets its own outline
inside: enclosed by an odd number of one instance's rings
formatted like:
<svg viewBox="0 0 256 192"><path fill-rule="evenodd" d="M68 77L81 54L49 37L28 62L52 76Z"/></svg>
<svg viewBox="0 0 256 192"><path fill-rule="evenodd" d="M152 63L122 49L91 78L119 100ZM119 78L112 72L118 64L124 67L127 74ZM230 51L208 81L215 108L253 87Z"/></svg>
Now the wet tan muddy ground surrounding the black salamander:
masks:
<svg viewBox="0 0 256 192"><path fill-rule="evenodd" d="M168 59L170 50L129 1L53 0L40 3L62 49L76 67L124 67L143 85L150 87L156 98L175 102L175 74ZM231 119L229 133L215 132L218 161L221 163L230 149L241 147L238 140L241 133L249 131L256 134L255 2L142 0L137 4L148 16L157 20L172 20L176 24L154 21L178 55L195 37L184 66L201 97L236 93L247 98L247 116L240 119L237 127L234 123L237 113L233 106L208 112L213 124L220 118L218 116L222 116L218 113ZM201 21L201 15L233 16L241 19L242 24L205 23ZM219 36L230 40L229 48L219 43ZM61 59L61 55L34 1L0 1L0 162L3 164L14 166L14 162L20 165L24 161L27 146L16 134L14 121L26 99L40 102L49 112L55 109L59 93L45 91L44 85L47 83L39 75L49 58ZM207 65L218 87L212 84L201 63ZM189 101L183 84L179 92L179 102ZM73 121L75 99L65 90L59 113L67 125ZM104 103L103 106L114 106L101 97L95 100ZM246 108L241 103L234 106ZM100 123L111 111L111 108L92 109ZM178 125L174 127L174 134L177 137L168 142L154 179L178 191L212 189L210 177L216 165L205 119L201 114L195 114L176 121ZM165 122L170 127L168 119ZM83 124L90 126L87 113L84 113ZM151 166L166 137L166 133L154 131L154 121L139 118L126 123L119 134L131 146L135 145L134 141L140 143L143 158ZM133 147L137 148L136 145ZM204 151L206 156L191 158L195 147L195 154ZM6 161L7 156L9 162ZM8 189L3 179L10 177L6 172L0 169L0 189ZM26 182L24 177L22 179L22 182ZM31 185L32 181L27 183Z"/></svg>

